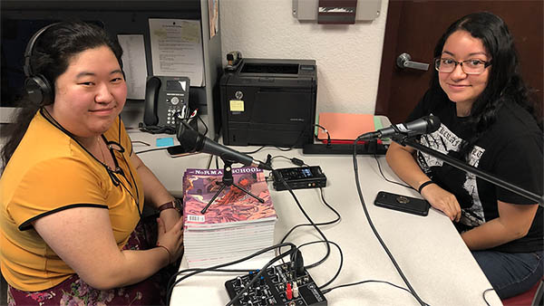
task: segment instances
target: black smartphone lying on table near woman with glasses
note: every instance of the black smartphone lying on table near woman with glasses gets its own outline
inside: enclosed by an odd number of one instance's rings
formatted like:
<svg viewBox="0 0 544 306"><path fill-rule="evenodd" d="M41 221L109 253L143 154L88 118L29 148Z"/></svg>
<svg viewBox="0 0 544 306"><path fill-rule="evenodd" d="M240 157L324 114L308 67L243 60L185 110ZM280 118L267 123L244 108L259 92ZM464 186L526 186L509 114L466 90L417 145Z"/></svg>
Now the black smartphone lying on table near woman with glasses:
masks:
<svg viewBox="0 0 544 306"><path fill-rule="evenodd" d="M402 196L380 191L374 200L375 206L398 210L413 215L429 215L429 202L412 196Z"/></svg>

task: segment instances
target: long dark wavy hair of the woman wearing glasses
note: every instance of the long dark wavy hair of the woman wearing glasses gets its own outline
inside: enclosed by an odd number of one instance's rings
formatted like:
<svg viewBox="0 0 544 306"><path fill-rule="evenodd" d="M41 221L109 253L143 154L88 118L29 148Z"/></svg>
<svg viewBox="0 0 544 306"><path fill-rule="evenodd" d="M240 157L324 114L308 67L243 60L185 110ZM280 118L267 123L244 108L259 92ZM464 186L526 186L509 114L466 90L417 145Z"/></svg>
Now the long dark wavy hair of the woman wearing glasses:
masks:
<svg viewBox="0 0 544 306"><path fill-rule="evenodd" d="M496 112L504 103L518 103L537 120L542 129L542 118L535 110L529 98L529 91L520 76L518 53L508 26L499 16L489 12L468 14L454 22L442 35L434 48L434 57L442 55L444 43L456 31L466 31L483 43L491 55L491 69L488 85L472 104L468 120L471 137L461 145L461 156L468 157L481 134L489 129L496 120ZM434 91L442 91L438 80L438 72L432 75L431 87ZM442 91L442 93L445 92Z"/></svg>

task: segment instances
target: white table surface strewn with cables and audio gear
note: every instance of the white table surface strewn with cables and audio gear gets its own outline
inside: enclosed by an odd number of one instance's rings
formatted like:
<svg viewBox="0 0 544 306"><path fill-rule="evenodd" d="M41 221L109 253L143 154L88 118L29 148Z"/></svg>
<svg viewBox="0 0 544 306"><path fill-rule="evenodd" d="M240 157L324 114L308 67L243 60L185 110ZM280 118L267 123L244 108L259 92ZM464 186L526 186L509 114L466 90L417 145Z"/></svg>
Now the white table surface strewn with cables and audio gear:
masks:
<svg viewBox="0 0 544 306"><path fill-rule="evenodd" d="M132 140L147 140L153 144L157 137L172 137L137 132L130 135ZM241 151L254 149L254 147L233 148ZM135 144L134 149L138 152L146 148ZM342 220L336 225L322 227L322 231L330 241L340 244L344 253L342 272L328 287L349 282L377 280L393 282L406 288L364 216L364 210L355 189L351 156L303 156L301 149L283 152L276 148L265 148L253 157L265 160L267 154L301 158L308 165L321 166L325 172L327 177L327 186L324 188L325 199L342 215ZM181 195L181 177L185 168L206 167L209 161L207 154L170 158L165 150L142 153L139 156L175 196ZM374 157L360 156L357 161L364 202L372 221L422 300L430 305L486 305L482 293L490 289L491 284L481 272L449 218L433 209L428 216L423 217L374 206L374 197L380 190L406 196L419 195L412 189L386 182L378 170ZM379 161L384 175L399 181L391 168L387 166L384 157L380 157ZM215 162L212 163L212 167L215 167ZM273 167L295 167L295 165L285 158L276 158ZM271 183L269 188L278 215L275 241L279 242L291 227L301 223L306 224L307 221L287 191L277 192ZM295 191L295 194L314 222L324 222L335 217L322 203L319 189L299 189ZM317 239L316 230L305 226L297 229L287 241L298 245ZM325 254L325 246L312 244L302 248L301 251L307 265L315 263ZM182 262L180 269L186 268L186 264ZM332 247L332 253L325 263L311 269L309 273L317 285L321 285L331 279L338 264L338 253L335 247ZM190 277L176 286L170 304L224 305L228 302L224 282L236 276L237 274L204 273ZM485 297L491 305L501 304L494 291L486 292ZM325 298L328 305L418 305L408 292L379 282L338 288L327 293Z"/></svg>

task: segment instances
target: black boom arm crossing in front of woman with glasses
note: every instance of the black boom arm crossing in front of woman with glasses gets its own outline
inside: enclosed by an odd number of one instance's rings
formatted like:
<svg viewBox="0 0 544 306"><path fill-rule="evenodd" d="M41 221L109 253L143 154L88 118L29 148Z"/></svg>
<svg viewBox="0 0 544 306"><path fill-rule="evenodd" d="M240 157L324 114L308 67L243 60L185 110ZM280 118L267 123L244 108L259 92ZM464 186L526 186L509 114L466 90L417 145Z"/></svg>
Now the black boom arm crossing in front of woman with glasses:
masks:
<svg viewBox="0 0 544 306"><path fill-rule="evenodd" d="M439 158L442 161L444 161L445 163L450 164L453 167L461 169L461 170L463 170L465 172L469 172L469 173L475 175L476 177L480 177L481 179L483 179L485 181L488 181L491 184L503 187L504 189L508 189L511 192L516 193L516 194L518 194L520 196L525 196L526 198L529 198L530 200L536 201L537 203L539 203L540 206L544 206L544 196L539 196L539 195L537 195L537 194L535 194L533 192L530 192L529 190L521 188L520 186L515 186L513 184L510 184L508 182L505 182L505 181L501 180L500 178L493 177L493 176L491 176L491 174L489 174L487 172L484 172L484 171L482 171L481 169L479 169L477 167L472 167L470 165L462 163L461 161L459 161L459 160L457 160L455 158L449 157L449 156L447 156L447 155L445 155L445 154L443 154L441 152L438 152L438 151L436 151L436 150L434 150L432 148L427 148L427 147L423 146L422 144L416 142L413 138L401 137L401 138L397 139L397 138L393 137L392 139L393 139L394 142L396 142L396 143L398 143L398 144L400 144L402 146L407 145L409 147L417 149L418 151L429 154L430 156L432 156L434 158Z"/></svg>

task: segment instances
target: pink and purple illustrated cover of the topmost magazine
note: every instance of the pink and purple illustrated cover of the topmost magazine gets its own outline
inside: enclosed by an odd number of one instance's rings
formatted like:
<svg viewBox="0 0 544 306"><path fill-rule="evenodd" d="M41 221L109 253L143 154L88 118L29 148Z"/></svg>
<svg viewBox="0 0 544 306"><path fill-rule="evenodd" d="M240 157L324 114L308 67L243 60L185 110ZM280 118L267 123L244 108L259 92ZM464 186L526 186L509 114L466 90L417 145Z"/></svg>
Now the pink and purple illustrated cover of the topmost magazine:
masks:
<svg viewBox="0 0 544 306"><path fill-rule="evenodd" d="M200 211L221 187L223 169L188 169L183 177L183 217L185 227L218 227L240 223L276 220L265 174L257 167L232 168L234 183L254 196L260 203L235 186L225 187L203 215Z"/></svg>

